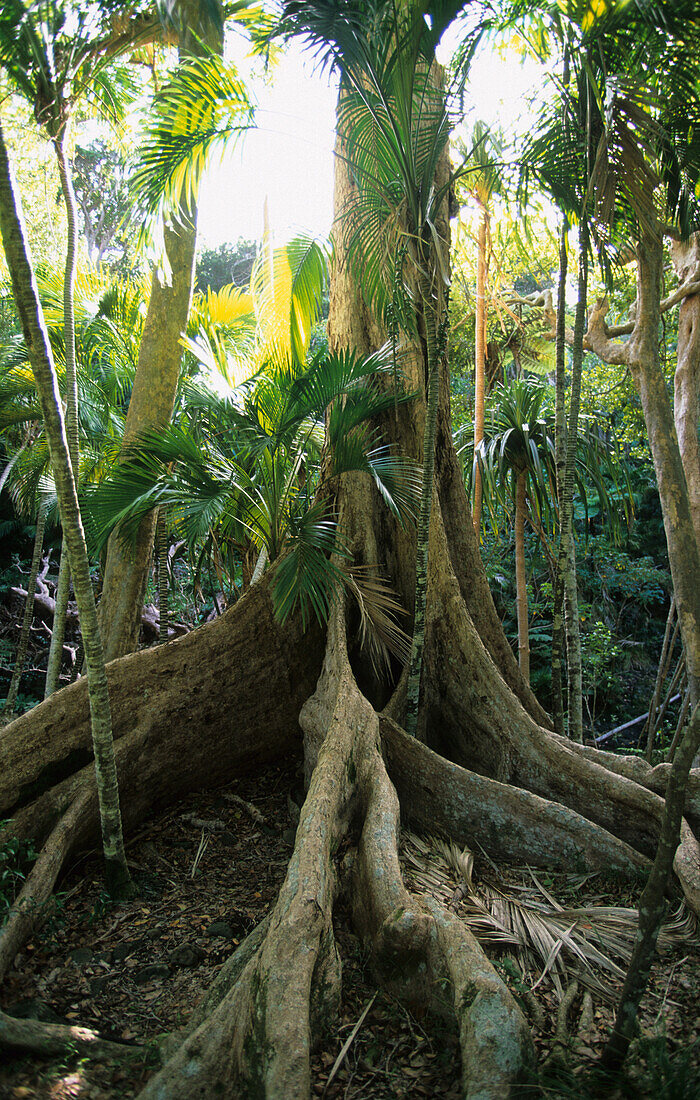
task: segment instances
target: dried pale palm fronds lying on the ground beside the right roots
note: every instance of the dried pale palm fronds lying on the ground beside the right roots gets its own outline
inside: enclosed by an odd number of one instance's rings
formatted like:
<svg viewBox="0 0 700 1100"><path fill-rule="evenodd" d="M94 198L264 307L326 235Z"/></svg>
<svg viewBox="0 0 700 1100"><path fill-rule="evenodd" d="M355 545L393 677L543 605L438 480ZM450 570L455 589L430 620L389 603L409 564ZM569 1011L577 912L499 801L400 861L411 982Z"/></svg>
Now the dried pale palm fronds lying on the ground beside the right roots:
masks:
<svg viewBox="0 0 700 1100"><path fill-rule="evenodd" d="M483 878L477 886L472 853L438 837L404 833L402 858L409 889L450 906L482 945L513 948L523 970L533 975L533 989L548 979L561 998L577 978L601 998L615 1000L634 945L636 909L566 908L529 868L521 869L523 881L507 889ZM681 905L664 924L659 949L688 942L697 942L697 924Z"/></svg>

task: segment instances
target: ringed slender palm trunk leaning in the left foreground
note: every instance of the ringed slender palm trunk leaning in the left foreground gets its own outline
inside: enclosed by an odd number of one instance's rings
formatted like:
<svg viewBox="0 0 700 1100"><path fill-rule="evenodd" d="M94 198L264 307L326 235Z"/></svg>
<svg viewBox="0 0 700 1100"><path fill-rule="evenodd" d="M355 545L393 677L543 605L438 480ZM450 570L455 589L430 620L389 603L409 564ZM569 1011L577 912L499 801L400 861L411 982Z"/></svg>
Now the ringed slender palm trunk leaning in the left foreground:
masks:
<svg viewBox="0 0 700 1100"><path fill-rule="evenodd" d="M44 417L58 506L68 544L70 569L74 578L88 664L92 748L95 751L95 771L106 879L108 888L112 892L119 893L128 887L129 870L127 868L121 828L105 656L97 624L90 565L80 519L77 488L68 453L68 441L61 408L56 372L48 333L36 290L36 282L29 256L21 208L15 198L1 124L0 230L2 232L4 253L12 280L12 292L22 322L22 331L29 350L36 392Z"/></svg>

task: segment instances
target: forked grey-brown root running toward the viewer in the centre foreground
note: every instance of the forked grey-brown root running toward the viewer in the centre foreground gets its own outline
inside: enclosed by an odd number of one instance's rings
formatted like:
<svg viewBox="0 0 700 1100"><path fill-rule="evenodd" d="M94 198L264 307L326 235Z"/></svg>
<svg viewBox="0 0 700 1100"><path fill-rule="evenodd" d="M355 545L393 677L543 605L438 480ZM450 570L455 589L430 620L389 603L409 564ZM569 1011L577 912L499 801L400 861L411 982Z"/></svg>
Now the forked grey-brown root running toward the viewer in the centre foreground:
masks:
<svg viewBox="0 0 700 1100"><path fill-rule="evenodd" d="M227 964L195 1015L192 1026L198 1026L140 1100L308 1097L311 1045L337 1013L340 988L332 854L358 823L353 915L378 975L407 1003L457 1020L466 1097L507 1097L531 1054L527 1026L462 923L403 884L398 799L381 754L379 717L347 659L339 608L302 722L309 766L316 763L275 909Z"/></svg>

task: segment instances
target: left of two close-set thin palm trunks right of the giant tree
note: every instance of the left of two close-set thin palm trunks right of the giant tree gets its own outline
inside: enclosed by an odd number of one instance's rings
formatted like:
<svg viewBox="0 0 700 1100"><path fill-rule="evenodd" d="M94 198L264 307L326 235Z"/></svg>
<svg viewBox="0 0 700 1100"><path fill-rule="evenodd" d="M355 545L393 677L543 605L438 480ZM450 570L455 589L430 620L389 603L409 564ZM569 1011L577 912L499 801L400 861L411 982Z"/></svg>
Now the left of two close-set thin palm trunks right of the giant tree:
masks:
<svg viewBox="0 0 700 1100"><path fill-rule="evenodd" d="M566 413L566 309L569 227L564 220L559 242L559 288L557 295L557 345L555 375L555 469L557 477L557 503L561 520L564 479L566 473L567 413ZM551 716L558 734L564 734L564 693L561 686L564 635L564 579L559 568L555 571L551 586L554 610L551 620Z"/></svg>

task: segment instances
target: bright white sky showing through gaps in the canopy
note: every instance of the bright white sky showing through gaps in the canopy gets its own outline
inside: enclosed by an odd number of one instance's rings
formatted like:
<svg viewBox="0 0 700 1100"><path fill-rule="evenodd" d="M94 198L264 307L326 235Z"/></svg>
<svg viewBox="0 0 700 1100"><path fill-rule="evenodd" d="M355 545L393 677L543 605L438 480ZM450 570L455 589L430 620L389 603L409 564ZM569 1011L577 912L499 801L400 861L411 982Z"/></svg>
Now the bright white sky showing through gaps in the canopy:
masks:
<svg viewBox="0 0 700 1100"><path fill-rule="evenodd" d="M267 84L251 79L240 47L236 63L253 85L258 128L209 170L200 201L203 246L239 238L260 240L265 198L277 243L299 230L327 234L332 220L336 88L327 75L314 72L294 44ZM521 65L513 57L506 62L491 51L482 53L469 82L474 118L489 125L514 124L540 73L534 62Z"/></svg>

